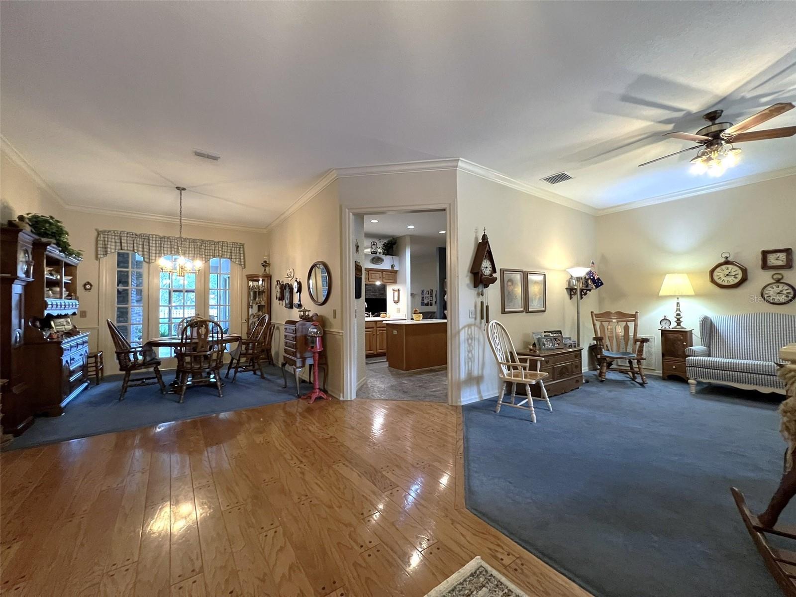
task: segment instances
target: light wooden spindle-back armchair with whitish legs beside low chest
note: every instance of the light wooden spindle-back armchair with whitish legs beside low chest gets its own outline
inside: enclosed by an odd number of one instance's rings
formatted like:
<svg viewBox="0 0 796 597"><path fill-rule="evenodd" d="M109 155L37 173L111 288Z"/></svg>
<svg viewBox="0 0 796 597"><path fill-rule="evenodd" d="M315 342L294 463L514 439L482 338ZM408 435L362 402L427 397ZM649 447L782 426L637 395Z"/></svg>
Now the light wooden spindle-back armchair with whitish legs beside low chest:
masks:
<svg viewBox="0 0 796 597"><path fill-rule="evenodd" d="M544 389L544 378L548 377L547 373L539 370L541 361L544 357L533 357L532 355L518 355L517 350L514 349L514 343L511 341L509 332L497 319L493 319L488 326L486 326L486 338L490 343L490 349L497 361L497 378L500 380L500 393L497 396L497 407L495 412L500 412L501 404L503 403L503 394L505 392L505 384L511 384L511 403L505 403L506 406L513 408L522 408L531 412L531 422L537 422L537 413L533 410L534 397L531 396L531 386L533 384L539 385L540 398L536 400L544 400L548 409L552 412L552 404L547 395L547 390ZM525 362L523 362L525 361ZM537 362L536 370L531 369L531 361ZM528 397L518 404L514 404L517 395L517 384L525 385L528 392ZM528 406L523 406L525 403Z"/></svg>

